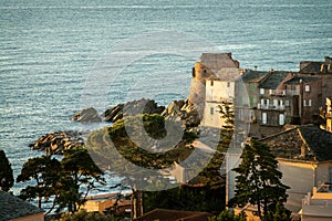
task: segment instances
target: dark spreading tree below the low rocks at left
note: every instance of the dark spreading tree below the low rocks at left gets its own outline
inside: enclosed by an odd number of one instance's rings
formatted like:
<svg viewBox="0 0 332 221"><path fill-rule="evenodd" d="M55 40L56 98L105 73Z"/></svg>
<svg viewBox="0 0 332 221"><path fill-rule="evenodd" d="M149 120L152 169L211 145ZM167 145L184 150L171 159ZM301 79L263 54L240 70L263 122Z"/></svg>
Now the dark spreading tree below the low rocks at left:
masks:
<svg viewBox="0 0 332 221"><path fill-rule="evenodd" d="M103 171L95 166L86 149L71 149L64 152L61 162L51 156L35 157L24 162L18 182L34 180L34 186L28 186L20 192L20 198L32 200L38 198L41 208L42 199L46 202L54 197L53 210L56 212L68 208L75 212L95 182L104 183ZM86 191L82 192L85 187ZM79 206L79 208L76 208ZM49 212L50 212L49 211Z"/></svg>

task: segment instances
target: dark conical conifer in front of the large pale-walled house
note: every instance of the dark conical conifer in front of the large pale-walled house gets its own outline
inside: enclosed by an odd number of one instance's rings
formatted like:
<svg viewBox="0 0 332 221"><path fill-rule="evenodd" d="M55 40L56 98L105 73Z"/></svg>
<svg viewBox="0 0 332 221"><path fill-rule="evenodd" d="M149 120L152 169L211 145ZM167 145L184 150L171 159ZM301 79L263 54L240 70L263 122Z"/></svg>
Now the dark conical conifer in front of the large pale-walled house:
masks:
<svg viewBox="0 0 332 221"><path fill-rule="evenodd" d="M241 155L241 164L235 168L236 194L230 206L245 207L247 203L257 206L260 219L269 211L276 210L276 204L287 201L286 190L281 183L282 173L278 170L274 156L268 146L251 140Z"/></svg>

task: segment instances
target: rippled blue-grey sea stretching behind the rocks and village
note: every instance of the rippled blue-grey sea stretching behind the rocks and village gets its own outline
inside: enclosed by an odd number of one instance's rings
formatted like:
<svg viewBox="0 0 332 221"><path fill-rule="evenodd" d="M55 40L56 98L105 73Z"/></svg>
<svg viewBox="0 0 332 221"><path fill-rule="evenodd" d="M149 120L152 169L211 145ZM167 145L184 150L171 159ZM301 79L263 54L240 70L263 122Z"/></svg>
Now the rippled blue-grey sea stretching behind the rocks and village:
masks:
<svg viewBox="0 0 332 221"><path fill-rule="evenodd" d="M323 61L331 11L330 0L0 0L0 148L17 177L42 155L28 147L40 136L106 125L72 122L82 108L186 98L201 53L264 71Z"/></svg>

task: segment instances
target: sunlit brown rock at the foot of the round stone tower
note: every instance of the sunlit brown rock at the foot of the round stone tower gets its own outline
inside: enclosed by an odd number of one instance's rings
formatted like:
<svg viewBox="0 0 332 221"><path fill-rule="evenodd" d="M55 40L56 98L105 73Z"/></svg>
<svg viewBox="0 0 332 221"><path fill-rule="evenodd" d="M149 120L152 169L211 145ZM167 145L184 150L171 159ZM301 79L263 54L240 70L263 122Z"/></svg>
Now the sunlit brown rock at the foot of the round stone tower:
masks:
<svg viewBox="0 0 332 221"><path fill-rule="evenodd" d="M183 122L184 127L193 128L200 124L200 116L197 108L188 99L174 101L162 113L165 119Z"/></svg>

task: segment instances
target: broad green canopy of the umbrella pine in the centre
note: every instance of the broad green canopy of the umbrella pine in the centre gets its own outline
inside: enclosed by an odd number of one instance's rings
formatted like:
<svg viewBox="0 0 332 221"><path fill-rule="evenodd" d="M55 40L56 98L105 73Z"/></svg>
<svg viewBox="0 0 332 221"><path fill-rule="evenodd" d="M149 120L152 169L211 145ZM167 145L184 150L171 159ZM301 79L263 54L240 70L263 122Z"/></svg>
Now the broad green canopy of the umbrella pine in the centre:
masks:
<svg viewBox="0 0 332 221"><path fill-rule="evenodd" d="M139 126L142 122L144 128ZM131 131L131 137L127 131ZM145 131L148 137L143 136ZM111 168L113 171L131 172L128 162L148 169L168 168L174 161L179 162L191 154L193 149L187 144L190 144L196 135L185 131L183 140L174 146L170 144L172 140L163 139L165 133L165 122L160 115L128 116L117 120L112 127L92 133L87 138L86 146L103 167ZM149 138L157 140L157 144L152 143ZM154 144L159 149L166 150L163 152L149 150L154 148ZM126 168L127 166L128 168Z"/></svg>

